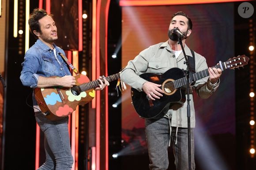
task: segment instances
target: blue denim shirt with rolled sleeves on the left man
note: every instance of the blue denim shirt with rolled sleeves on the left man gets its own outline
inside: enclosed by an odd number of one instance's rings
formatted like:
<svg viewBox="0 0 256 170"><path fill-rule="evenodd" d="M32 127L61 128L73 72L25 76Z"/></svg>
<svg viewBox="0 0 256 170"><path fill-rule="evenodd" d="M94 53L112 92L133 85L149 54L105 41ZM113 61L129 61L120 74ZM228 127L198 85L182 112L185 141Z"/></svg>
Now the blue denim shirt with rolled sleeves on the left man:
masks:
<svg viewBox="0 0 256 170"><path fill-rule="evenodd" d="M35 88L38 85L38 77L51 77L51 76L67 76L71 75L67 63L60 56L64 51L53 44L56 49L56 57L52 49L50 49L41 40L26 51L20 80L24 86Z"/></svg>

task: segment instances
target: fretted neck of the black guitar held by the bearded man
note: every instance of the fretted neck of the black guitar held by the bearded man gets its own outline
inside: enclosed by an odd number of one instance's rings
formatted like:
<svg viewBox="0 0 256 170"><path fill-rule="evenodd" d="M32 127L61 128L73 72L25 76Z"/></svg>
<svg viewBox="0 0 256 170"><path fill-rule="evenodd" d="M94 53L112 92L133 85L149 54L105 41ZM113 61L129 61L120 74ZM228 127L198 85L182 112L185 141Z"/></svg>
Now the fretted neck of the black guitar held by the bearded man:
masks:
<svg viewBox="0 0 256 170"><path fill-rule="evenodd" d="M215 65L215 66L213 66L211 68L225 70L226 69L226 62L221 62L221 65ZM204 77L209 76L209 72L208 72L208 69L205 69L205 70L202 70L200 72L196 72L196 73L194 73L192 75L193 75L194 81L196 81L196 80L200 80L200 79L203 79ZM192 77L189 76L189 83L192 83L194 81L192 80ZM179 87L182 87L182 86L184 86L186 84L187 84L187 78L186 77L183 77L181 79L178 79L178 80L174 81L175 89L177 89Z"/></svg>

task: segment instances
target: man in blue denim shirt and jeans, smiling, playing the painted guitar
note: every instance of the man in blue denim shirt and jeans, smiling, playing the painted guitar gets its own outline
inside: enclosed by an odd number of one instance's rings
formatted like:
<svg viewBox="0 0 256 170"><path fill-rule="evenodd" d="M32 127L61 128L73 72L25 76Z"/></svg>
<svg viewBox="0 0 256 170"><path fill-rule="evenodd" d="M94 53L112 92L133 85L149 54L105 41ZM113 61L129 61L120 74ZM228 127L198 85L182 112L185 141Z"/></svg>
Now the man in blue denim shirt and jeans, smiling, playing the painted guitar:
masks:
<svg viewBox="0 0 256 170"><path fill-rule="evenodd" d="M60 56L60 53L65 53L53 43L58 38L53 16L43 9L34 9L30 14L29 26L30 32L38 40L26 51L20 76L23 85L31 88L73 87L75 77L71 76L68 65ZM95 90L102 90L109 85L105 78L102 81L102 77L99 77L99 82L100 85ZM68 116L51 121L40 112L34 94L33 104L36 121L45 134L46 161L39 170L71 170L73 157L68 134Z"/></svg>

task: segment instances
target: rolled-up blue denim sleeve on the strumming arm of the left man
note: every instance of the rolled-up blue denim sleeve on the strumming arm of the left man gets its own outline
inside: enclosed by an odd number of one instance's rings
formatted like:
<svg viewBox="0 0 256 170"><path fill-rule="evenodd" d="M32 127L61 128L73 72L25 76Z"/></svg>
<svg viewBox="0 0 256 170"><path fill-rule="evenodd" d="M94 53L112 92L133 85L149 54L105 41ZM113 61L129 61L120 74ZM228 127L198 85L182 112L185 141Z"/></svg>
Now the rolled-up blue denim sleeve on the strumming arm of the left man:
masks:
<svg viewBox="0 0 256 170"><path fill-rule="evenodd" d="M22 65L20 80L24 86L35 88L38 85L38 68L40 60L38 54L27 51Z"/></svg>

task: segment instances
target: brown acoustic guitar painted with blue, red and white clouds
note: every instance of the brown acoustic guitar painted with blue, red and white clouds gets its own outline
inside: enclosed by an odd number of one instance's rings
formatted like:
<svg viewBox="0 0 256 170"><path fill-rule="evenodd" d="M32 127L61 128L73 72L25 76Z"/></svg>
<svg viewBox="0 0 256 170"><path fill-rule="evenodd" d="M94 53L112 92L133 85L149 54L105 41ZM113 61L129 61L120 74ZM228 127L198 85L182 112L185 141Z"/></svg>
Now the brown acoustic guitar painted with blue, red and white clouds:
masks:
<svg viewBox="0 0 256 170"><path fill-rule="evenodd" d="M120 73L105 77L109 82L120 78ZM90 81L83 74L75 76L73 87L35 88L34 95L41 112L49 120L63 119L75 111L77 105L85 105L95 97L94 88L99 80Z"/></svg>

